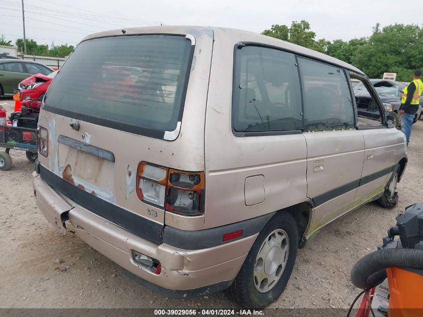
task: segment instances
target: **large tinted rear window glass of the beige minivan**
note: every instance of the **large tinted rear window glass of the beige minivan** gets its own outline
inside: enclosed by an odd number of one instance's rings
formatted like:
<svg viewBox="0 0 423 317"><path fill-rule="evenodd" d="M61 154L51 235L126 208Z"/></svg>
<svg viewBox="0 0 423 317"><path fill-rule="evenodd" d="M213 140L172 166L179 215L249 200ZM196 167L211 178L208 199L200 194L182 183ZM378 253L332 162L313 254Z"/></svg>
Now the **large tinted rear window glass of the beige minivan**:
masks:
<svg viewBox="0 0 423 317"><path fill-rule="evenodd" d="M130 35L82 42L52 82L44 109L163 139L181 121L191 41Z"/></svg>

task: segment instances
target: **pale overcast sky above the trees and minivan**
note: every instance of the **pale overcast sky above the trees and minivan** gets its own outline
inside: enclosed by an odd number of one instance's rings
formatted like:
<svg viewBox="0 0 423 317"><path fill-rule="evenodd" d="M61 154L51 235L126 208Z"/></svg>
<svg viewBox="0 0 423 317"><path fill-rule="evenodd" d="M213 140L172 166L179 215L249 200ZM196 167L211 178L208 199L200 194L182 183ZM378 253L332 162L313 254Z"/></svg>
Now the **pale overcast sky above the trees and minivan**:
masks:
<svg viewBox="0 0 423 317"><path fill-rule="evenodd" d="M397 0L24 0L26 36L39 44L76 45L86 35L125 27L199 25L260 33L305 20L317 39L368 37L376 23L423 23L423 2ZM0 0L0 36L23 38L21 0Z"/></svg>

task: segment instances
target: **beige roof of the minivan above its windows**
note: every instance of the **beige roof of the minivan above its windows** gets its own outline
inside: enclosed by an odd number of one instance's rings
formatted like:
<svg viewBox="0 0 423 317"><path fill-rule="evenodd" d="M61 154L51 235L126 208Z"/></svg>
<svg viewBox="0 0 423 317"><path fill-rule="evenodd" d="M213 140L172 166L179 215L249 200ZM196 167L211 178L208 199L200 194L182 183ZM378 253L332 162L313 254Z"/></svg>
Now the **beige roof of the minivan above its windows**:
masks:
<svg viewBox="0 0 423 317"><path fill-rule="evenodd" d="M275 38L268 37L262 34L257 34L257 33L248 32L248 31L227 29L227 28L194 27L194 26L159 26L159 27L128 28L128 29L125 29L124 31L125 31L124 34L122 32L122 29L95 33L85 37L81 42L91 40L91 39L96 39L96 38L103 38L103 37L129 36L129 35L141 35L141 34L150 34L150 35L154 35L154 34L188 35L189 34L194 37L197 37L197 36L199 37L205 34L211 38L213 38L213 35L222 36L222 37L225 36L225 37L230 37L236 42L254 43L254 44L273 46L276 48L280 48L282 50L303 55L305 57L311 57L326 63L337 65L339 67L364 75L363 72L361 72L359 69L355 68L354 66L349 65L348 63L345 63L341 60L330 57L328 55L325 55L323 53L319 53L299 45L295 45L286 41L282 41L279 39L275 39Z"/></svg>

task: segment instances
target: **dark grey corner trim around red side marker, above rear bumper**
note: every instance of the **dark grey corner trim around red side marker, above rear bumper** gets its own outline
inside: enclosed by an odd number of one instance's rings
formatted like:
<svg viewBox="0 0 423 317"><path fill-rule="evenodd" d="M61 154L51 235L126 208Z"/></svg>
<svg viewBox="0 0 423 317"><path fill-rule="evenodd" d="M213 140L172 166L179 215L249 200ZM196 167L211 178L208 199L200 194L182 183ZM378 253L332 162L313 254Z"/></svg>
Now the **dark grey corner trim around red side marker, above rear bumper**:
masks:
<svg viewBox="0 0 423 317"><path fill-rule="evenodd" d="M276 212L268 213L263 216L243 220L240 222L224 225L221 227L204 229L198 231L186 231L174 227L165 226L163 230L163 243L175 246L185 250L199 250L206 249L224 243L232 242L230 240L223 242L223 235L225 233L243 230L242 239L253 234L256 234L269 221Z"/></svg>

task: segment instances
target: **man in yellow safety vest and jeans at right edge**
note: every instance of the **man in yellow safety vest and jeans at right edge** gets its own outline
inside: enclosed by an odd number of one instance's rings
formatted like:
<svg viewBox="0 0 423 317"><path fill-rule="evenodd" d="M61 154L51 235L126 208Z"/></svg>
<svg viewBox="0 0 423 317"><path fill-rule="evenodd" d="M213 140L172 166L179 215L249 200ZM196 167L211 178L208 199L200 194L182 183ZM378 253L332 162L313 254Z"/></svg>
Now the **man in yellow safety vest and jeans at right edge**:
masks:
<svg viewBox="0 0 423 317"><path fill-rule="evenodd" d="M423 91L423 82L420 78L421 70L416 69L412 74L412 82L404 89L401 97L401 107L399 107L399 112L401 113L401 130L407 139L407 146L410 142L414 115L418 110L420 95Z"/></svg>

